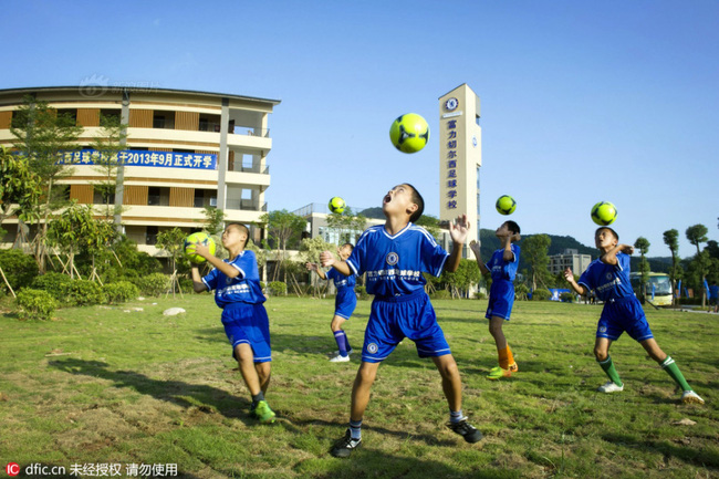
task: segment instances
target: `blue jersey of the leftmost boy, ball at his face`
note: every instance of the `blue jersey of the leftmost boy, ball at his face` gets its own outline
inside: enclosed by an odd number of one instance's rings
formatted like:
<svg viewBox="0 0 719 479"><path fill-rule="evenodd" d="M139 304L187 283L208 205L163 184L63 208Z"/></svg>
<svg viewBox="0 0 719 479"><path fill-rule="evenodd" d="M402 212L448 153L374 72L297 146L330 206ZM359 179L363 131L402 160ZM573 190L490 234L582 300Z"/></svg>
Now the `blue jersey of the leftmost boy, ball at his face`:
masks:
<svg viewBox="0 0 719 479"><path fill-rule="evenodd" d="M215 290L215 302L225 308L229 303L260 304L264 302L264 294L260 288L260 272L257 268L257 257L250 250L242 250L232 260L223 260L240 274L228 278L217 268L210 271L202 282L209 291Z"/></svg>

